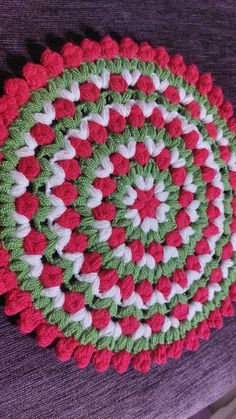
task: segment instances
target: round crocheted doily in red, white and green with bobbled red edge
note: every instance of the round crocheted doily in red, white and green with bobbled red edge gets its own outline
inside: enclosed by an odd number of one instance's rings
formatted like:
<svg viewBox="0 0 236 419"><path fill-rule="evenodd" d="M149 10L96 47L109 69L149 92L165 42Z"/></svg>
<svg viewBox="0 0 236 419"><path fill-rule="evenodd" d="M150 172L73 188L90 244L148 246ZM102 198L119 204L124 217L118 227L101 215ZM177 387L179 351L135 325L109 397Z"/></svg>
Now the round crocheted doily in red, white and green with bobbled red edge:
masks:
<svg viewBox="0 0 236 419"><path fill-rule="evenodd" d="M80 368L196 350L236 299L236 118L163 48L67 43L0 99L0 293Z"/></svg>

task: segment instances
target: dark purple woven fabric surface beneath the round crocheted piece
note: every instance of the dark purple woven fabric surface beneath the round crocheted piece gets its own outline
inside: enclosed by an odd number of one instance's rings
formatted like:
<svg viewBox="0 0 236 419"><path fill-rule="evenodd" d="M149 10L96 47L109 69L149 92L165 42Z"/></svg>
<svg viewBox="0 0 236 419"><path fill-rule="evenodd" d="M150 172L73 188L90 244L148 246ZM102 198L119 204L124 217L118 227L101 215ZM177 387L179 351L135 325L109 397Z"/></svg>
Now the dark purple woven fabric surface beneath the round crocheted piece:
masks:
<svg viewBox="0 0 236 419"><path fill-rule="evenodd" d="M0 77L20 74L50 46L110 33L165 45L211 71L236 105L235 1L1 0ZM236 384L236 322L225 321L196 353L146 375L98 375L61 364L0 313L0 417L184 419Z"/></svg>

